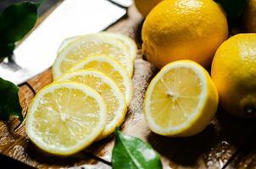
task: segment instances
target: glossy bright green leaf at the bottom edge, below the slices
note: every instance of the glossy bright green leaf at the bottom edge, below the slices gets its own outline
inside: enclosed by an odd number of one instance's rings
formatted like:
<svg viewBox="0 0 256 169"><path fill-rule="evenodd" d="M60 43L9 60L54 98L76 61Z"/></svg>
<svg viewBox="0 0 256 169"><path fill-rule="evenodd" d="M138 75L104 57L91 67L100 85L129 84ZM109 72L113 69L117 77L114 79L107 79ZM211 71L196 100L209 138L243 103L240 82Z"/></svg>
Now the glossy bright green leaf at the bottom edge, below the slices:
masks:
<svg viewBox="0 0 256 169"><path fill-rule="evenodd" d="M160 169L160 156L152 147L135 137L121 134L115 130L115 144L112 152L114 169Z"/></svg>

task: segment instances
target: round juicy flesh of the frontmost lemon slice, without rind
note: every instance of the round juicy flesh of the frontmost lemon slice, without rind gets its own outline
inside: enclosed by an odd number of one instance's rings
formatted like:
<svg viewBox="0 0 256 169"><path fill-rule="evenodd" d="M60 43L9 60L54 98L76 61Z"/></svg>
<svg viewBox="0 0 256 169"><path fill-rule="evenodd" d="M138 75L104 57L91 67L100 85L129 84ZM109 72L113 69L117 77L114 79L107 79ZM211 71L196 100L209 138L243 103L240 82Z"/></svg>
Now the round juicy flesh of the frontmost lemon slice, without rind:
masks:
<svg viewBox="0 0 256 169"><path fill-rule="evenodd" d="M42 96L32 127L45 144L65 150L91 134L99 116L100 107L92 96L60 88Z"/></svg>

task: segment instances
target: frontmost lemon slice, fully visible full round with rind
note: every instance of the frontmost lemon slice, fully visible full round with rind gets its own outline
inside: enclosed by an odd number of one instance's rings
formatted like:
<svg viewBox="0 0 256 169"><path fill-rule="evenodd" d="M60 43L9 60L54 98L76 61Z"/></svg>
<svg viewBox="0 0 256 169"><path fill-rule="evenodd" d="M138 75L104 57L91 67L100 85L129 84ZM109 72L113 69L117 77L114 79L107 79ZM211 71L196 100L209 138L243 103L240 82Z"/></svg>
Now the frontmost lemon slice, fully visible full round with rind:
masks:
<svg viewBox="0 0 256 169"><path fill-rule="evenodd" d="M71 155L102 133L106 106L92 88L75 82L47 85L36 94L26 117L26 133L39 148Z"/></svg>

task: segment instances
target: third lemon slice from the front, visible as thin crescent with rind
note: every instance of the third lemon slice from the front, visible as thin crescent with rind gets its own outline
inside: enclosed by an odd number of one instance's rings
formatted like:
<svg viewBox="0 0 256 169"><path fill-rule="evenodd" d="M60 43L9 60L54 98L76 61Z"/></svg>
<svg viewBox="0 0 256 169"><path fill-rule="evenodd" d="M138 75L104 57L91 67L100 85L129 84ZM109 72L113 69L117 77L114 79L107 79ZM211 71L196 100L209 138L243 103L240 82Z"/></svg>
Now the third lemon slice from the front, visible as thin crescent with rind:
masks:
<svg viewBox="0 0 256 169"><path fill-rule="evenodd" d="M125 69L113 58L106 56L86 57L86 59L76 64L73 68L70 68L70 72L80 69L97 70L107 74L120 87L120 90L125 95L125 101L129 105L132 95L131 79Z"/></svg>

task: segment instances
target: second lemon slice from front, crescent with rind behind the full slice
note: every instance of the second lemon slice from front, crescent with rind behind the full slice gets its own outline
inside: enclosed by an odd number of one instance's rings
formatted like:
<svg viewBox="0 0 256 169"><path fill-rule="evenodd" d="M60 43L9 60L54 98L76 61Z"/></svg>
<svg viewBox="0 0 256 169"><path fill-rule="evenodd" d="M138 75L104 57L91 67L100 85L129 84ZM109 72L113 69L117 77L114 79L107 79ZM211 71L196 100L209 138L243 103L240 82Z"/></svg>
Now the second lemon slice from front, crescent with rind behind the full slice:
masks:
<svg viewBox="0 0 256 169"><path fill-rule="evenodd" d="M70 74L64 74L58 81L75 81L89 85L103 97L107 106L107 125L103 133L97 139L103 139L114 132L125 120L127 111L125 96L115 85L112 79L97 71L79 70Z"/></svg>

